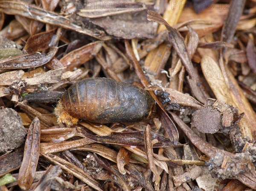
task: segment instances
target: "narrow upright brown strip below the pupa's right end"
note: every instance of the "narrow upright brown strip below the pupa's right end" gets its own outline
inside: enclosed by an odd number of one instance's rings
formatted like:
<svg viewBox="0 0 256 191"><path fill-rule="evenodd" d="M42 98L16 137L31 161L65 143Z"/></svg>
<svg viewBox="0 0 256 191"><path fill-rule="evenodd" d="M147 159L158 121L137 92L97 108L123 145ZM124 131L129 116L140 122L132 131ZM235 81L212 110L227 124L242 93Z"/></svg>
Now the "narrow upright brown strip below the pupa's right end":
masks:
<svg viewBox="0 0 256 191"><path fill-rule="evenodd" d="M155 185L158 185L161 177L157 171L157 167L154 163L154 155L152 150L152 143L151 143L151 133L150 133L150 125L147 125L145 127L145 133L144 133L144 139L145 139L145 150L148 158L148 165L150 170L154 173L155 179L153 179L153 182Z"/></svg>

